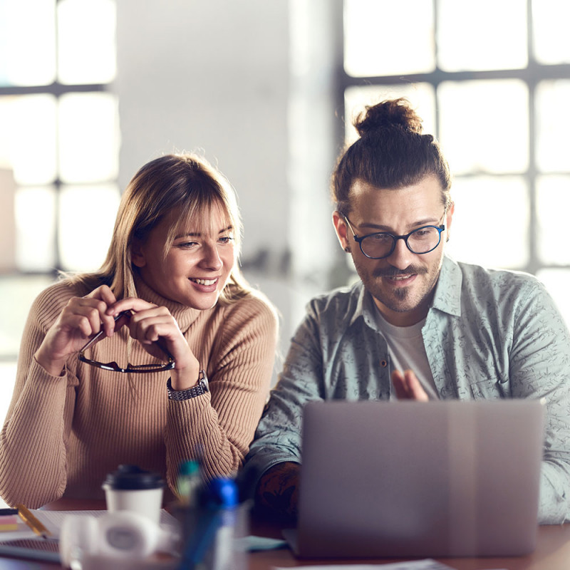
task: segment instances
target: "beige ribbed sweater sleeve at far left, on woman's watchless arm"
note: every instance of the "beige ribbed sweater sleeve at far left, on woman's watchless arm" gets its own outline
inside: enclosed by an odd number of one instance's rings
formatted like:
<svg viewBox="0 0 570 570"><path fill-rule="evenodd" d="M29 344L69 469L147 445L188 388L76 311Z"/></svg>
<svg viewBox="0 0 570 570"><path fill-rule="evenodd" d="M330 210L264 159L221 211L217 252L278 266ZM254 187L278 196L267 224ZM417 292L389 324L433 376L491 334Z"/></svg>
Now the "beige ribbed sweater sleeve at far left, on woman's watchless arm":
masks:
<svg viewBox="0 0 570 570"><path fill-rule="evenodd" d="M67 371L48 374L33 354L71 296L63 284L43 291L24 328L14 395L0 434L0 494L8 504L40 507L66 488L65 440L76 380Z"/></svg>

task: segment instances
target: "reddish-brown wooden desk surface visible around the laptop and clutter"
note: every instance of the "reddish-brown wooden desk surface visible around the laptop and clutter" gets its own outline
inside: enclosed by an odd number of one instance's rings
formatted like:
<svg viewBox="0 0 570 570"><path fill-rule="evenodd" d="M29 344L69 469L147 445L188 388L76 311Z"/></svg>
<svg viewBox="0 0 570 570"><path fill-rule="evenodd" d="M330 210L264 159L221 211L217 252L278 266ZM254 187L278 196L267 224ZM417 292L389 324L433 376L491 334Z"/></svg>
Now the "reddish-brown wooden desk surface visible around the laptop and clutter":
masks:
<svg viewBox="0 0 570 570"><path fill-rule="evenodd" d="M100 501L71 501L61 499L49 504L51 510L104 509ZM279 527L269 527L260 522L252 522L252 534L261 536L279 536ZM351 559L336 561L337 564L386 564L403 559ZM527 556L511 558L441 558L443 564L455 570L566 570L570 569L570 524L546 525L539 527L537 548ZM319 566L333 564L331 559L307 560L296 559L288 549L254 552L249 556L249 570L271 570L273 566L294 568L295 566ZM54 570L58 564L32 562L9 558L0 558L1 570Z"/></svg>

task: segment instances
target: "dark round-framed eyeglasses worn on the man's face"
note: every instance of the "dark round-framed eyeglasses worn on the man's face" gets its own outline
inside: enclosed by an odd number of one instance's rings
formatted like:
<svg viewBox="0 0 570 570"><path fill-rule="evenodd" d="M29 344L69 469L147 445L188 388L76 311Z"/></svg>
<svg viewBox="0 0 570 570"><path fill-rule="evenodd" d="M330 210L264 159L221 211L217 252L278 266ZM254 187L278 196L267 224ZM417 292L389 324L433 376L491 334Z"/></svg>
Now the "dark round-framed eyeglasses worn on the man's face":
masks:
<svg viewBox="0 0 570 570"><path fill-rule="evenodd" d="M445 218L445 212L447 212L447 208L443 211L442 221ZM438 224L437 226L418 227L405 236L395 236L390 232L376 232L359 237L354 232L348 216L344 216L344 219L351 229L354 241L361 247L361 252L370 259L384 259L392 255L398 239L403 239L406 247L413 254L428 254L440 244L441 232L445 229L445 225Z"/></svg>

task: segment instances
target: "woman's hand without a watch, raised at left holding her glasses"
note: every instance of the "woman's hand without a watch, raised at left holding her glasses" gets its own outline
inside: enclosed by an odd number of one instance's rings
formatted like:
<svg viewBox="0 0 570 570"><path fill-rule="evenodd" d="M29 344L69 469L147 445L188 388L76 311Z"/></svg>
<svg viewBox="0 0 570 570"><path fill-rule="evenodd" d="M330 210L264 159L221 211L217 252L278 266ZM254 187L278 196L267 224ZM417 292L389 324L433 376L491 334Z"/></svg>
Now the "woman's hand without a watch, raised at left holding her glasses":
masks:
<svg viewBox="0 0 570 570"><path fill-rule="evenodd" d="M107 311L116 301L107 285L84 297L72 297L36 351L40 366L53 376L61 375L69 356L81 350L91 336L102 329L111 336L115 331L115 320ZM117 323L117 328L120 326L123 322Z"/></svg>

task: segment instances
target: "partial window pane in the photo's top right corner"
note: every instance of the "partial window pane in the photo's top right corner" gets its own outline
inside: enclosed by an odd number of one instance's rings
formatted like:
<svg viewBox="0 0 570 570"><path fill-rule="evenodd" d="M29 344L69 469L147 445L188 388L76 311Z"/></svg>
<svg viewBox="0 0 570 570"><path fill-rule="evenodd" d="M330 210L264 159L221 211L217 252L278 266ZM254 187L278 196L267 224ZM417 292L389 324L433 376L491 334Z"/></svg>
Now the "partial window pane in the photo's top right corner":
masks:
<svg viewBox="0 0 570 570"><path fill-rule="evenodd" d="M539 63L570 63L568 0L533 0L534 57Z"/></svg>

